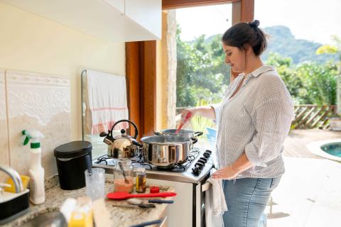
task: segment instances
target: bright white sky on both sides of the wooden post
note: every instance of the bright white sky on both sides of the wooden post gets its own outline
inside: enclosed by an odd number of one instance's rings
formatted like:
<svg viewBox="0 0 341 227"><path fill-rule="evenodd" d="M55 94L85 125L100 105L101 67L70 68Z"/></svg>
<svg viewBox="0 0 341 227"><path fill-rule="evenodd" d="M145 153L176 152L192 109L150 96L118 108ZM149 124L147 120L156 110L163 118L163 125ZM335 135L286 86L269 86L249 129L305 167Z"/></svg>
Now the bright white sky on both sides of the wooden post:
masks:
<svg viewBox="0 0 341 227"><path fill-rule="evenodd" d="M332 44L330 35L341 37L341 0L255 0L254 18L260 27L287 26L297 39ZM193 40L224 33L231 26L232 4L176 10L181 38Z"/></svg>

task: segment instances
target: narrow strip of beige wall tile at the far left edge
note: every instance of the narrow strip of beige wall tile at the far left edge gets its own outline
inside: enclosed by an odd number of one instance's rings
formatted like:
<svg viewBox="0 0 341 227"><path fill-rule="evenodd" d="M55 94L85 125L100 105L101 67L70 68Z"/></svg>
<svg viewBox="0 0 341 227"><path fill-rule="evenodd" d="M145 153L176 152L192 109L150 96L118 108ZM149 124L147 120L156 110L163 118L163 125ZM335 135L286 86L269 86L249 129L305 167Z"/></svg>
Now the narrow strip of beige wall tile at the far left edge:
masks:
<svg viewBox="0 0 341 227"><path fill-rule="evenodd" d="M9 165L9 138L7 136L4 70L0 70L0 165Z"/></svg>

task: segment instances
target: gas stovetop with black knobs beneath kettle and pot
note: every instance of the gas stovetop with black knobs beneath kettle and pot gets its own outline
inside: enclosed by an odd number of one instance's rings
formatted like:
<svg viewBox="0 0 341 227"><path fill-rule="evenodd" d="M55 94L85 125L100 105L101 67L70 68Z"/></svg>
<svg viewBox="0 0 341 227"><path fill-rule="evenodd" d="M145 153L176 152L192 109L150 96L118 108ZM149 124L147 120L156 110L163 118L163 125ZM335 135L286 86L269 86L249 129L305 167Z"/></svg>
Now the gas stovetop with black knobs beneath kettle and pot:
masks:
<svg viewBox="0 0 341 227"><path fill-rule="evenodd" d="M151 165L144 161L143 157L134 157L131 163L134 168L144 167L146 169L147 179L163 179L174 182L188 182L197 184L207 176L213 166L211 150L201 150L193 148L188 153L188 159L181 164L176 164L170 168L161 168ZM117 165L117 159L102 155L92 161L93 167L102 167L107 174L114 172Z"/></svg>

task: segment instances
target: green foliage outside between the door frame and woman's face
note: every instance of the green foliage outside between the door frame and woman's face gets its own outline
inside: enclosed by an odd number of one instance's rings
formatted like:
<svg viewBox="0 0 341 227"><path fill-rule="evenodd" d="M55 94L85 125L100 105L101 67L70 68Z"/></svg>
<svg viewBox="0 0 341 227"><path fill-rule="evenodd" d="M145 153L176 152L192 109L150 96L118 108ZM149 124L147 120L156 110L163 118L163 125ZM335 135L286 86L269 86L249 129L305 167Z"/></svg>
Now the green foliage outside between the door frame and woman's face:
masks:
<svg viewBox="0 0 341 227"><path fill-rule="evenodd" d="M219 35L206 42L205 35L193 43L180 40L177 33L177 106L195 106L205 99L220 101L229 82L229 67L224 64Z"/></svg>

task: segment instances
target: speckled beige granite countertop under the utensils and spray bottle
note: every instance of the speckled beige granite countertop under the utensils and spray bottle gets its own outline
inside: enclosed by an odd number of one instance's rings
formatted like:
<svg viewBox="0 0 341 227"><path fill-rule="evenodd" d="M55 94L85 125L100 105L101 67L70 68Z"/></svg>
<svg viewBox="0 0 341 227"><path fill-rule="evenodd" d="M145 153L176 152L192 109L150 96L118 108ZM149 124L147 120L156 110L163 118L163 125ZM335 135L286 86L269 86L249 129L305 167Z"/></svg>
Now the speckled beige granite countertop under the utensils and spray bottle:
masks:
<svg viewBox="0 0 341 227"><path fill-rule="evenodd" d="M149 186L147 185L146 193L149 192ZM174 192L172 187L160 186L160 192ZM105 193L112 192L113 182L106 180ZM15 220L6 223L4 226L22 226L28 220L51 211L59 211L60 206L67 198L77 198L85 196L85 187L77 190L63 190L60 189L59 184L50 187L45 191L45 203L39 205L30 204L30 209L27 214L16 218ZM171 198L168 198L171 199ZM148 200L145 199L146 201ZM154 221L162 218L165 214L168 204L154 204L155 208L139 208L134 207L119 207L119 205L129 205L126 200L111 200L105 199L105 204L109 213L111 214L112 226L131 226L146 221Z"/></svg>

